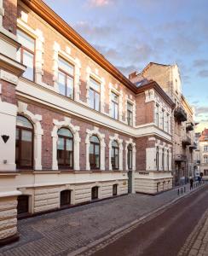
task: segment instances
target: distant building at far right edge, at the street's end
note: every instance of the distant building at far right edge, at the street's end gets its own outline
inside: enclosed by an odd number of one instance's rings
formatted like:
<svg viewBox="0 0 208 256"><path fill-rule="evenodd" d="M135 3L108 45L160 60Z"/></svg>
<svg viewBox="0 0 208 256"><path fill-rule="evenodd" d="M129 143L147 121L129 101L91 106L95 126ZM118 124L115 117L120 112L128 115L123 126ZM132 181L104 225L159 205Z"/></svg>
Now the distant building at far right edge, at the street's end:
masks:
<svg viewBox="0 0 208 256"><path fill-rule="evenodd" d="M199 138L200 151L200 172L203 173L203 179L208 179L208 129L201 132Z"/></svg>

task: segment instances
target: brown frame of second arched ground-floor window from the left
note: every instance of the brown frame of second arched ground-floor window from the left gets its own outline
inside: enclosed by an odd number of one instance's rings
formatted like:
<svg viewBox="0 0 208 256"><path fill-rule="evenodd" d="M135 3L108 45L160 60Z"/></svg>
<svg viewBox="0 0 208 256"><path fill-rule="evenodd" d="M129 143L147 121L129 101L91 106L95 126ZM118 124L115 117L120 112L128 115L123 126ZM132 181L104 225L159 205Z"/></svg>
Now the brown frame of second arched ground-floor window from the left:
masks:
<svg viewBox="0 0 208 256"><path fill-rule="evenodd" d="M61 127L61 128L65 128L67 129L68 131L70 131L70 129L68 129L67 127ZM60 131L61 128L58 130ZM73 164L74 164L74 159L73 159L73 154L74 154L74 142L73 142L73 134L72 134L72 137L67 137L65 135L60 135L58 134L58 131L57 131L57 135L58 135L58 140L59 140L59 137L61 138L64 138L64 164L61 165L59 164L59 159L58 159L58 145L57 145L57 164L58 164L58 169L59 170L64 170L64 169L70 169L70 170L73 170ZM70 131L72 133L72 131ZM69 165L66 165L66 139L68 140L72 140L72 166L69 166ZM57 143L58 143L58 140L57 140Z"/></svg>

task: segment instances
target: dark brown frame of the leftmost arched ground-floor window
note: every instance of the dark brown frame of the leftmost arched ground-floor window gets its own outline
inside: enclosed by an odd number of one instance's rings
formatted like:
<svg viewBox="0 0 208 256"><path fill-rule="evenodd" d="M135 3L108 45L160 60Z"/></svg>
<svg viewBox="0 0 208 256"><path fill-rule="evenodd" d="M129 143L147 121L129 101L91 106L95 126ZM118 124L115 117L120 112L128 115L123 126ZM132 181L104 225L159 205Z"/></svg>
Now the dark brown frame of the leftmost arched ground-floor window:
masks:
<svg viewBox="0 0 208 256"><path fill-rule="evenodd" d="M21 117L27 119L24 115L18 114L17 117L18 116L21 116ZM33 165L34 165L34 125L30 121L30 119L27 119L27 120L32 125L32 128L16 125L16 130L15 130L15 132L17 132L17 129L19 129L19 139L18 139L18 141L19 141L19 157L18 157L19 164L16 163L16 153L15 153L15 164L16 164L16 168L20 169L20 170L33 169ZM21 143L20 142L22 141L21 140L21 138L22 138L22 130L23 131L32 131L32 160L31 160L32 164L31 164L31 166L21 166L20 165L20 162L21 162L21 160L20 160L20 156L21 156ZM16 141L17 141L17 139L15 137L15 152L16 152Z"/></svg>

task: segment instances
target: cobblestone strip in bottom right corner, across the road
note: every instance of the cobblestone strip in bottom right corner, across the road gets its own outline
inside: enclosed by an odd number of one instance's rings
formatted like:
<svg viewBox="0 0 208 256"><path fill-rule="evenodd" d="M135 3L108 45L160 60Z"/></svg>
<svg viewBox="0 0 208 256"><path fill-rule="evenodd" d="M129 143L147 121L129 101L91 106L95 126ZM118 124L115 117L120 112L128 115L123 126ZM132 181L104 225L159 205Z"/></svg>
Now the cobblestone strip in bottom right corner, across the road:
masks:
<svg viewBox="0 0 208 256"><path fill-rule="evenodd" d="M208 256L208 210L188 236L178 256Z"/></svg>

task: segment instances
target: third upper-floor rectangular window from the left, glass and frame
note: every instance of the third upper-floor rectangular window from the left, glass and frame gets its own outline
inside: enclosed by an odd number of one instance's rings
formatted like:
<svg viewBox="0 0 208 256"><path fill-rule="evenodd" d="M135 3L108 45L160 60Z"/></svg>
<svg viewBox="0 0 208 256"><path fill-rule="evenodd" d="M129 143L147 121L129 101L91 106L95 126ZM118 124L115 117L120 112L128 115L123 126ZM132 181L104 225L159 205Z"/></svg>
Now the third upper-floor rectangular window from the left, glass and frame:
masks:
<svg viewBox="0 0 208 256"><path fill-rule="evenodd" d="M90 78L90 108L101 111L101 84Z"/></svg>

